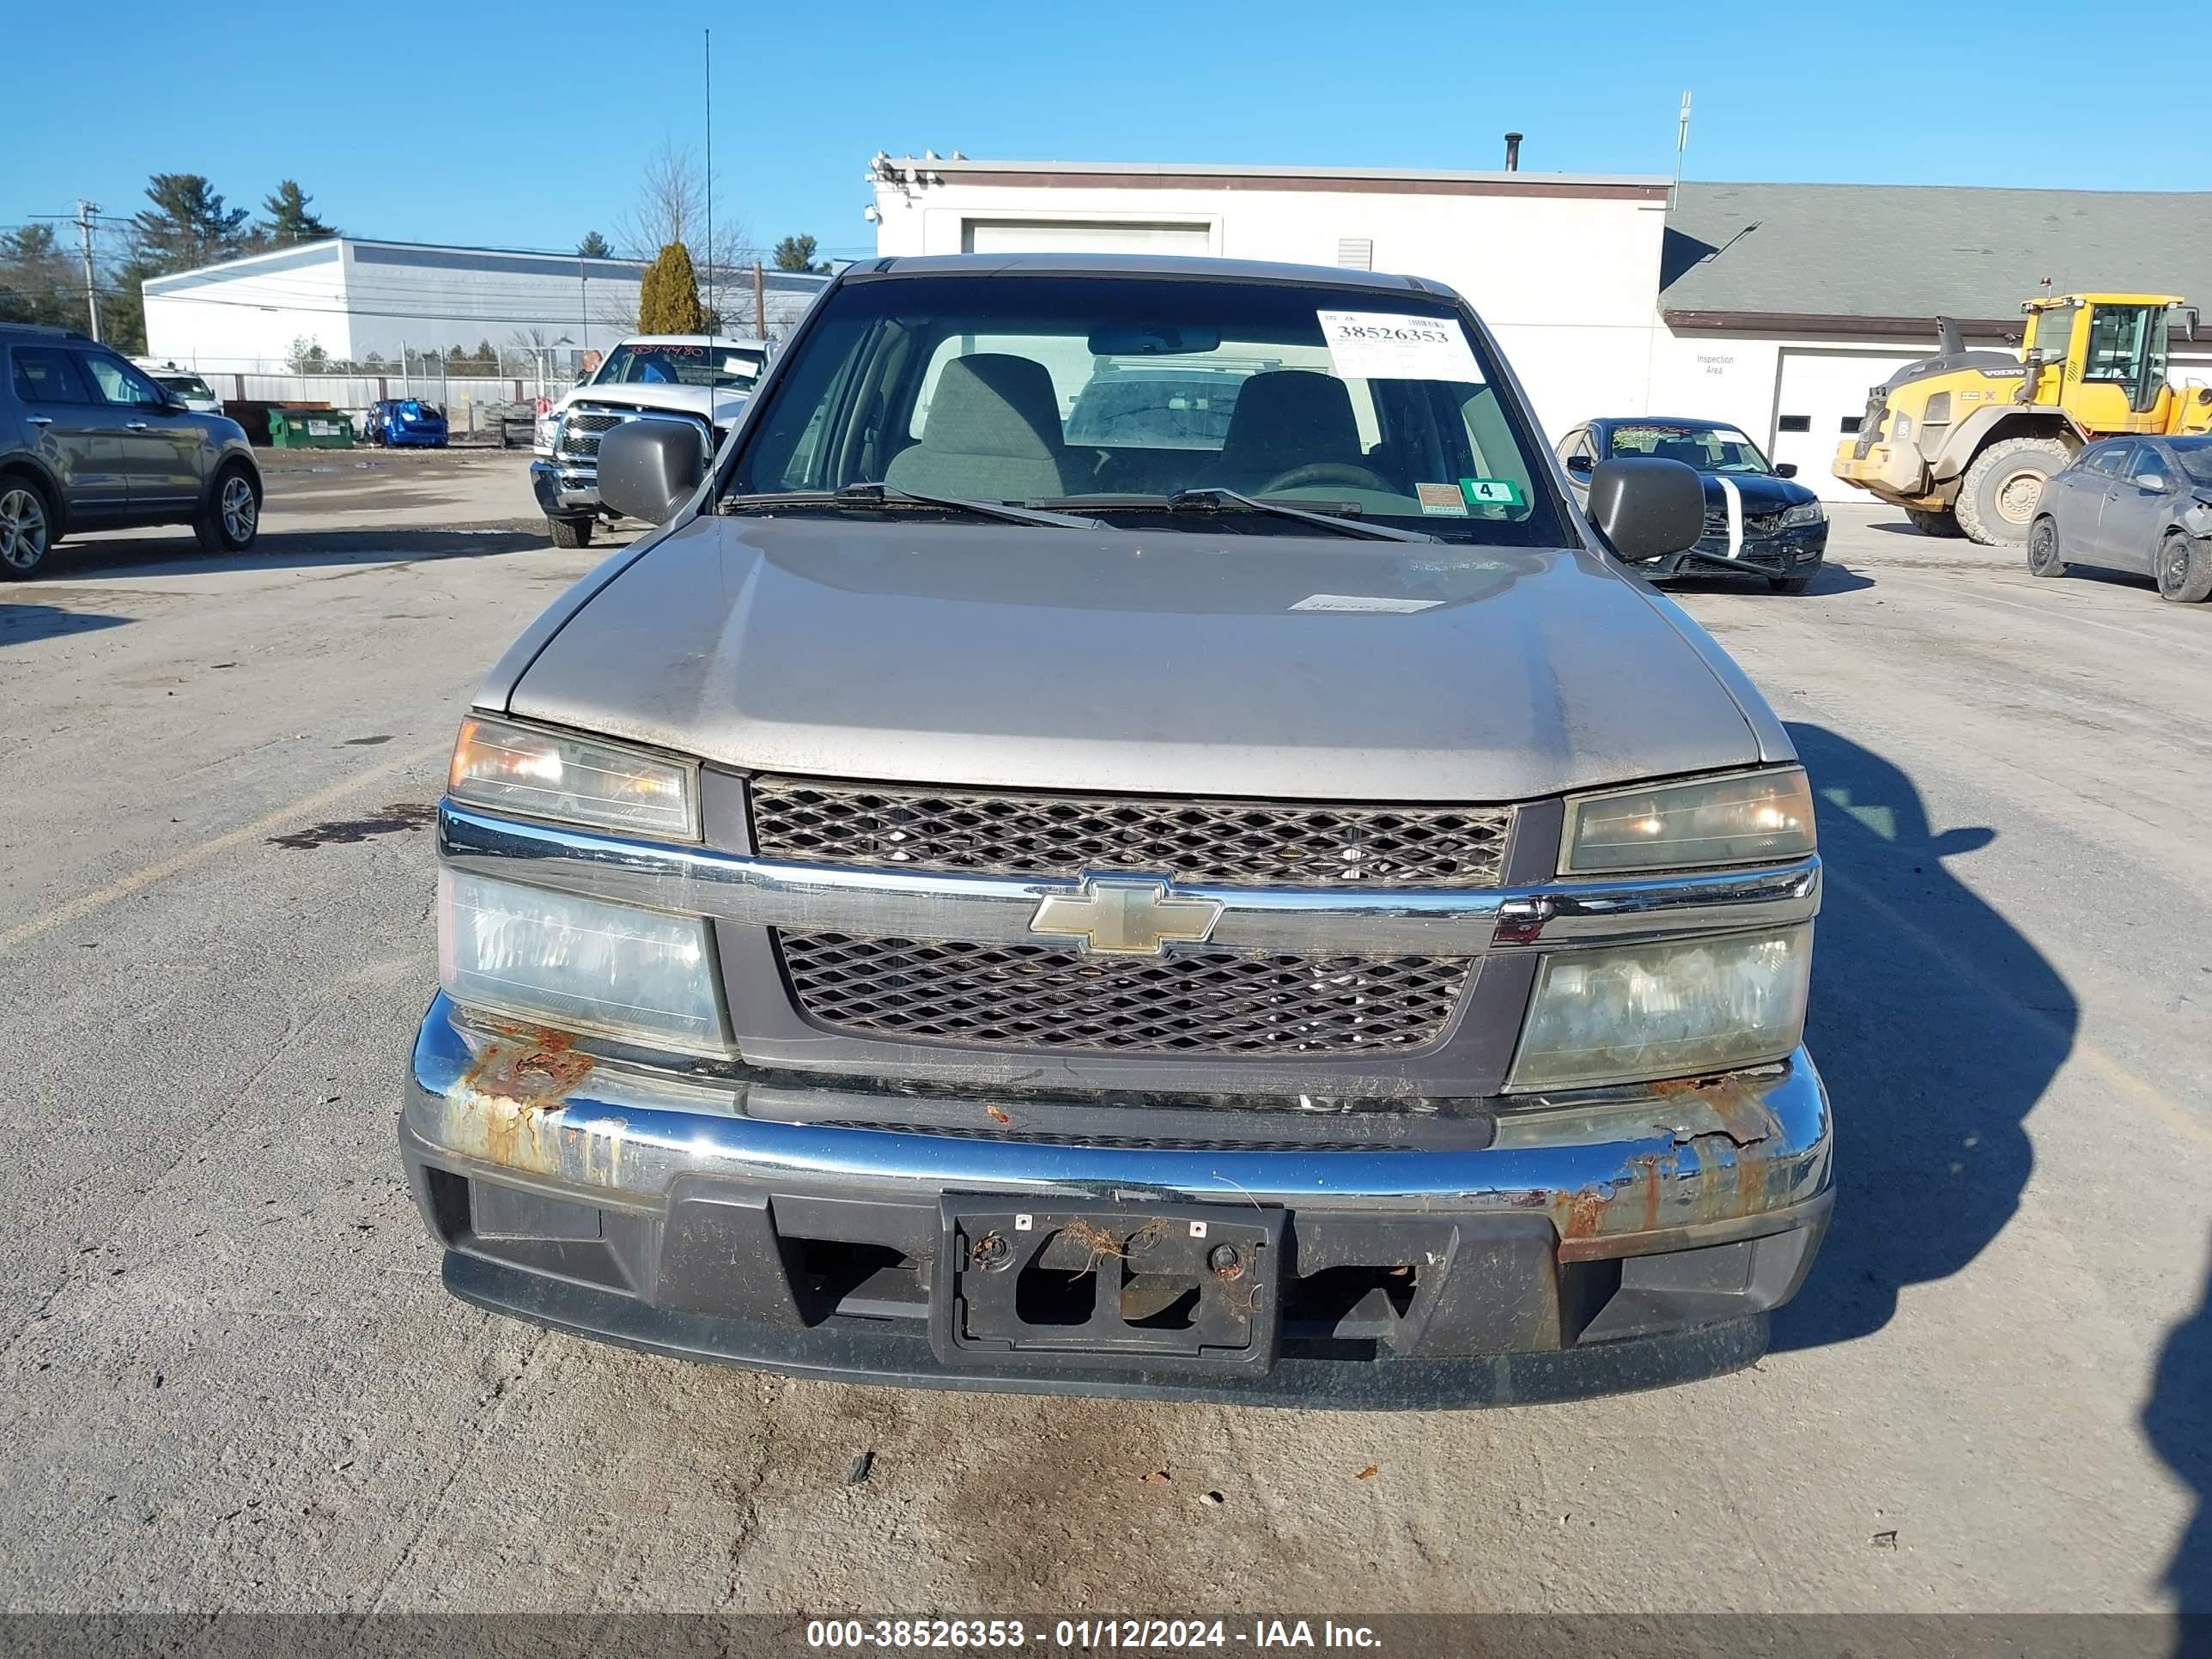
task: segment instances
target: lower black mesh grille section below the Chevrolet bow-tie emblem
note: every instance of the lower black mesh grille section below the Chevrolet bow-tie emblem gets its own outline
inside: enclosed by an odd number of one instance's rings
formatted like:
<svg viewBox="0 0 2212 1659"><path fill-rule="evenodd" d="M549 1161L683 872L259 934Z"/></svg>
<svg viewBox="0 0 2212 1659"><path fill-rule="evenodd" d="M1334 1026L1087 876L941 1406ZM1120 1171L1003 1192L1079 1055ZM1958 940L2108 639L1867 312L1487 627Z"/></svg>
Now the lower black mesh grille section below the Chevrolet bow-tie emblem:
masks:
<svg viewBox="0 0 2212 1659"><path fill-rule="evenodd" d="M818 1026L971 1048L1349 1055L1438 1037L1467 958L1084 956L779 931Z"/></svg>

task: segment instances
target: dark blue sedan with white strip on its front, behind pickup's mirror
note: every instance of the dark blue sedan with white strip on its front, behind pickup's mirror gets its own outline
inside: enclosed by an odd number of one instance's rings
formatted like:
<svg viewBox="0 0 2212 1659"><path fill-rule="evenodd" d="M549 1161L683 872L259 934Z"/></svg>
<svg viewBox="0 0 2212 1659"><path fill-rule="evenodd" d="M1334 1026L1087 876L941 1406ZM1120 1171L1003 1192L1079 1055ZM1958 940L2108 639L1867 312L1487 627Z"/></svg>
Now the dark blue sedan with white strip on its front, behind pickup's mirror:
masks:
<svg viewBox="0 0 2212 1659"><path fill-rule="evenodd" d="M1796 467L1772 465L1759 445L1719 420L1615 416L1586 420L1559 445L1566 480L1588 498L1590 471L1617 456L1679 460L1705 482L1705 535L1697 546L1637 575L1754 575L1776 593L1803 593L1827 553L1827 511L1794 482Z"/></svg>

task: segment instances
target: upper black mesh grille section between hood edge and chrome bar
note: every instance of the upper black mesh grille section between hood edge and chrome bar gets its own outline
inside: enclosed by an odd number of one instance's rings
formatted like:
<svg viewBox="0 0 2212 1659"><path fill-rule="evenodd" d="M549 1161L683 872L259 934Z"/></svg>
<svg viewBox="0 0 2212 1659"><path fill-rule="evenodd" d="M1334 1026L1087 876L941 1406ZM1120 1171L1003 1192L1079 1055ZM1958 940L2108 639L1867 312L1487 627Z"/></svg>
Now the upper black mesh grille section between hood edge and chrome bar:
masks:
<svg viewBox="0 0 2212 1659"><path fill-rule="evenodd" d="M752 781L768 858L1011 876L1144 869L1183 883L1495 887L1511 807L1336 807Z"/></svg>

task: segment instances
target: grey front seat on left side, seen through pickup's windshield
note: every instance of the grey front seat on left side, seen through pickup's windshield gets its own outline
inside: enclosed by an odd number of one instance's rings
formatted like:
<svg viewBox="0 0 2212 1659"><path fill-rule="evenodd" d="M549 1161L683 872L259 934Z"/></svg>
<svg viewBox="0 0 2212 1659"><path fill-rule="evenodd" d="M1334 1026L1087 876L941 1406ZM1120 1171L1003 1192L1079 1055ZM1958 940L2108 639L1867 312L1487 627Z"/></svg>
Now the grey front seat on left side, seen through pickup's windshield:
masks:
<svg viewBox="0 0 2212 1659"><path fill-rule="evenodd" d="M951 358L938 374L922 440L883 473L891 489L1022 502L1071 495L1060 394L1042 363L1004 352Z"/></svg>

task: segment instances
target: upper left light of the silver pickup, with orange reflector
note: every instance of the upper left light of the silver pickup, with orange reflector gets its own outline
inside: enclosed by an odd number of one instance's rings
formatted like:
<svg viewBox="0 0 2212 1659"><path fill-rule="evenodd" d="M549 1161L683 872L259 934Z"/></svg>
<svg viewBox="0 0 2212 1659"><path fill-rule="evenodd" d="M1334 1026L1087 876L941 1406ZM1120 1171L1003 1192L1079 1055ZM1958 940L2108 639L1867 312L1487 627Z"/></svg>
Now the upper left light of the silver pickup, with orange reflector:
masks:
<svg viewBox="0 0 2212 1659"><path fill-rule="evenodd" d="M471 714L445 792L531 818L699 838L699 770L686 761Z"/></svg>

